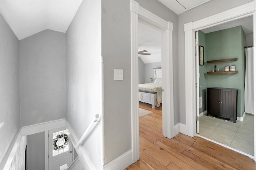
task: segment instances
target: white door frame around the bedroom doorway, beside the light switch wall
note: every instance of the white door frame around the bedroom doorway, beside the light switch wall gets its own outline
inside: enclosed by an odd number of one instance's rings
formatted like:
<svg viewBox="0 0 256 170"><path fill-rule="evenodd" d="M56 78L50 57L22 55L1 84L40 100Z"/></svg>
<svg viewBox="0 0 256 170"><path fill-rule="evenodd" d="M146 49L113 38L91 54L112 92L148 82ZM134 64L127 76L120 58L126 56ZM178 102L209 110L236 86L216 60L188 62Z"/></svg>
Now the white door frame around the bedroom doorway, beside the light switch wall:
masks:
<svg viewBox="0 0 256 170"><path fill-rule="evenodd" d="M174 137L173 71L172 71L172 23L145 10L131 0L131 112L132 112L132 160L140 158L138 117L138 22L148 23L162 32L162 100L163 135Z"/></svg>

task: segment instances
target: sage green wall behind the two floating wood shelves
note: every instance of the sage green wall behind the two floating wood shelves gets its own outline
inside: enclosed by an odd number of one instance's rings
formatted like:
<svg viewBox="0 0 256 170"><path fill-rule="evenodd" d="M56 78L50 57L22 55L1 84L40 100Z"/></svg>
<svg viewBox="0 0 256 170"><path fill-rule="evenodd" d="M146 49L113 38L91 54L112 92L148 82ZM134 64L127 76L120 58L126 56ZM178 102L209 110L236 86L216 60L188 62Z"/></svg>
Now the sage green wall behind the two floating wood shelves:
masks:
<svg viewBox="0 0 256 170"><path fill-rule="evenodd" d="M201 36L203 39L204 35ZM238 89L237 117L242 117L244 114L244 31L242 27L236 26L234 28L205 34L205 46L207 48L204 48L204 73L214 70L214 65L216 65L217 70L220 69L220 71L224 71L225 65L236 65L237 74L205 74L205 80L206 87ZM209 60L228 58L237 58L238 60L206 63L206 61Z"/></svg>

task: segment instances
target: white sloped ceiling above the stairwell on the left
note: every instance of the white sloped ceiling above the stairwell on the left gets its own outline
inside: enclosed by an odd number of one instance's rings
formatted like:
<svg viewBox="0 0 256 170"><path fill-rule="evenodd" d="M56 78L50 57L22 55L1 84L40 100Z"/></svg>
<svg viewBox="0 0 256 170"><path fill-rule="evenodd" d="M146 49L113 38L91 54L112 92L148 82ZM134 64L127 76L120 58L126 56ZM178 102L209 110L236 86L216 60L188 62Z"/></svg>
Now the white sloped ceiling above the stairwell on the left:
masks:
<svg viewBox="0 0 256 170"><path fill-rule="evenodd" d="M19 40L41 32L66 32L82 0L1 0L0 13Z"/></svg>

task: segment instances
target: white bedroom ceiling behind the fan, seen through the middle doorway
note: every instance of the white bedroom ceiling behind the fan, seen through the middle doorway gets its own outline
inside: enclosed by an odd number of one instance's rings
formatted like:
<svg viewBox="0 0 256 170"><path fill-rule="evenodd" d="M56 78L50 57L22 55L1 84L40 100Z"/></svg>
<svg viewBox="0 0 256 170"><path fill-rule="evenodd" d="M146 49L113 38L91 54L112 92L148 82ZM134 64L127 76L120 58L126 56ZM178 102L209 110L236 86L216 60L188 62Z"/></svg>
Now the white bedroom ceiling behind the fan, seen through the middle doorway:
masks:
<svg viewBox="0 0 256 170"><path fill-rule="evenodd" d="M139 23L138 50L147 50L146 53L151 53L151 55L139 55L145 64L161 62L161 32Z"/></svg>

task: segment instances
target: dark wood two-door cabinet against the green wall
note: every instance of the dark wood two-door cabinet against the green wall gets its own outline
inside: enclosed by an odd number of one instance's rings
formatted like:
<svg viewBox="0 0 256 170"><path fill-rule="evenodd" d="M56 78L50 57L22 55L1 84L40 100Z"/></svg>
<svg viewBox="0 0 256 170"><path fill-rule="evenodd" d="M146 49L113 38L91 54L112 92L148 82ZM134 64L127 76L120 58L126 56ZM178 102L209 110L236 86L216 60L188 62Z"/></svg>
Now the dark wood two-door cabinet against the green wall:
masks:
<svg viewBox="0 0 256 170"><path fill-rule="evenodd" d="M207 88L207 116L215 115L233 119L236 123L237 91L230 88Z"/></svg>

